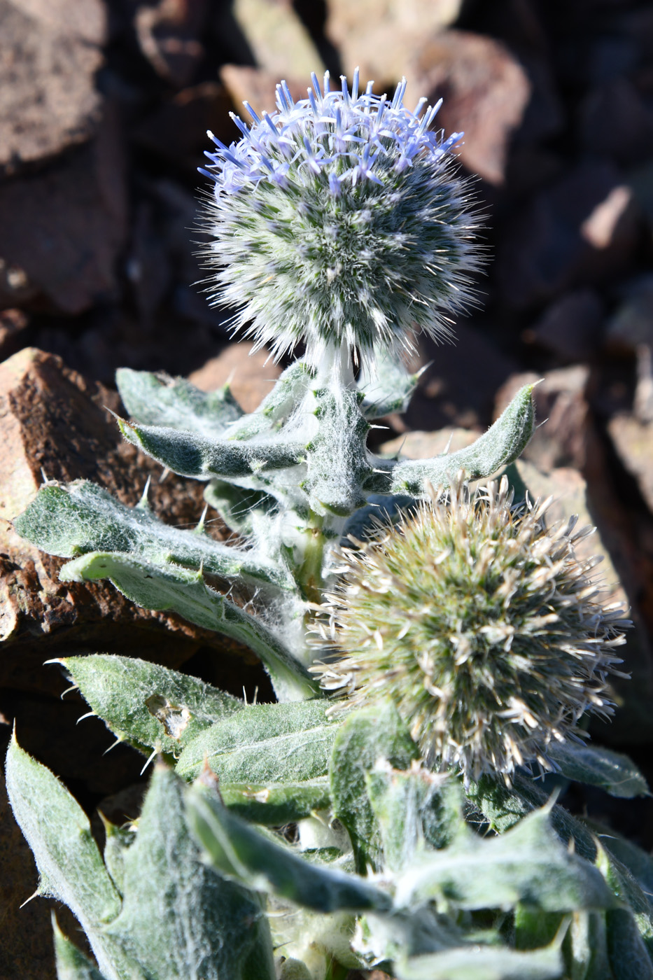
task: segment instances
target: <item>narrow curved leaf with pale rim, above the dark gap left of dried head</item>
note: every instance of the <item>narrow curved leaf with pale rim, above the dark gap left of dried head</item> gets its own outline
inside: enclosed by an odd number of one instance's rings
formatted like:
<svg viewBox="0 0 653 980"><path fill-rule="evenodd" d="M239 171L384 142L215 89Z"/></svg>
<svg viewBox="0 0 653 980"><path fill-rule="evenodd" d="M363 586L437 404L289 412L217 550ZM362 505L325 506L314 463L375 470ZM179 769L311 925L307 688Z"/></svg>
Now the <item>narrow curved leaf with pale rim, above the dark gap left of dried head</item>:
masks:
<svg viewBox="0 0 653 980"><path fill-rule="evenodd" d="M174 610L198 626L217 630L246 644L269 670L280 698L301 700L315 694L316 682L275 634L209 588L199 572L173 566L162 568L128 555L96 552L64 565L59 577L63 582L108 578L137 606Z"/></svg>

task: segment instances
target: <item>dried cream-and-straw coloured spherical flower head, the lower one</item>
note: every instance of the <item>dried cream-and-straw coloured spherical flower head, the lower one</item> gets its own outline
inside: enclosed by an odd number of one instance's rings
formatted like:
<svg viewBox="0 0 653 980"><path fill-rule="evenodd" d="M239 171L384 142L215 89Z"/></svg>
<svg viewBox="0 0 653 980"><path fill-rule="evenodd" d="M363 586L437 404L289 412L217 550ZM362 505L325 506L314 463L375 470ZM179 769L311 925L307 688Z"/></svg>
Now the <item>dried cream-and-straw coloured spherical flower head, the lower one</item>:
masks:
<svg viewBox="0 0 653 980"><path fill-rule="evenodd" d="M549 502L514 506L508 481L458 482L359 550L318 627L334 660L316 664L335 710L389 698L424 758L506 782L544 769L551 743L583 733L584 711L610 715L608 676L629 625L603 606L576 518L547 529Z"/></svg>

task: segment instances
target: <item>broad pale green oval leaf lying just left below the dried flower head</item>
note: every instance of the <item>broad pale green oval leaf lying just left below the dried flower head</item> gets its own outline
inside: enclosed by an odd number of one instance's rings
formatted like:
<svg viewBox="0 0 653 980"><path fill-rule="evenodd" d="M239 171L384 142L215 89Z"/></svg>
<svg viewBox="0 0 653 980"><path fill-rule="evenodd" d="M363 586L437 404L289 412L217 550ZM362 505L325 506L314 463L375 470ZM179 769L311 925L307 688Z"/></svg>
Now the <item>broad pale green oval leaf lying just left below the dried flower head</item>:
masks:
<svg viewBox="0 0 653 980"><path fill-rule="evenodd" d="M202 732L176 771L197 775L206 760L223 783L295 783L326 775L337 725L326 701L251 705Z"/></svg>

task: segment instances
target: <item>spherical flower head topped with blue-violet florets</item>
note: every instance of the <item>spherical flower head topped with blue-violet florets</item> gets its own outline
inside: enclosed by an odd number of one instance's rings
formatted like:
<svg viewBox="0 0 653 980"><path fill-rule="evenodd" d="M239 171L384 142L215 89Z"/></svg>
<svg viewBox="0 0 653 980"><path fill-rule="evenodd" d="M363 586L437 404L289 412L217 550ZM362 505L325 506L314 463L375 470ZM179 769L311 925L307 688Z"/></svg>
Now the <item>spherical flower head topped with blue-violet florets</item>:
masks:
<svg viewBox="0 0 653 980"><path fill-rule="evenodd" d="M450 333L479 266L469 186L452 148L429 130L439 108L422 99L410 112L406 82L391 100L324 89L315 75L294 102L285 82L276 112L226 147L211 133L215 180L207 202L215 303L238 307L235 328L278 356L304 342L319 362L343 342L363 357L373 349L410 351L416 332ZM212 280L207 280L211 282Z"/></svg>

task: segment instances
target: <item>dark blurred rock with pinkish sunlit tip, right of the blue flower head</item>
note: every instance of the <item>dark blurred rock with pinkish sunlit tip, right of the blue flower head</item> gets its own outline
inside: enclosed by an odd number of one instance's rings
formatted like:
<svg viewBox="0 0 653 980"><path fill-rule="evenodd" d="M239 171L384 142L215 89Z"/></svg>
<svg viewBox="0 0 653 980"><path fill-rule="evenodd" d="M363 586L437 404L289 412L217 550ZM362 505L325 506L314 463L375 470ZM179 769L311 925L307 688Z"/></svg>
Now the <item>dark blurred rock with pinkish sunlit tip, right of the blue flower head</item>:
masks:
<svg viewBox="0 0 653 980"><path fill-rule="evenodd" d="M504 302L524 310L615 277L628 268L638 224L619 172L607 162L579 164L509 222L496 260Z"/></svg>

